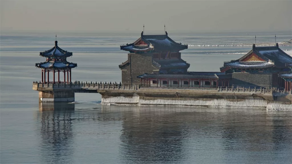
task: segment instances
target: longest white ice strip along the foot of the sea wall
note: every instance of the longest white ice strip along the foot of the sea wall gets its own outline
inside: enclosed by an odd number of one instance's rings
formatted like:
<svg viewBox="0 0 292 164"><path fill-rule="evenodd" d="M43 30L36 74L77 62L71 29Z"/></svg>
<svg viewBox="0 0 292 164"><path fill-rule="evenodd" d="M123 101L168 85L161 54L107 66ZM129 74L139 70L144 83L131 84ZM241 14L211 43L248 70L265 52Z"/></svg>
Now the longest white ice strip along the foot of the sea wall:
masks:
<svg viewBox="0 0 292 164"><path fill-rule="evenodd" d="M203 100L140 100L142 105L181 105L181 106L200 106L215 108L265 108L267 102L265 100L243 100L243 101L227 101L225 99L214 99L210 101Z"/></svg>

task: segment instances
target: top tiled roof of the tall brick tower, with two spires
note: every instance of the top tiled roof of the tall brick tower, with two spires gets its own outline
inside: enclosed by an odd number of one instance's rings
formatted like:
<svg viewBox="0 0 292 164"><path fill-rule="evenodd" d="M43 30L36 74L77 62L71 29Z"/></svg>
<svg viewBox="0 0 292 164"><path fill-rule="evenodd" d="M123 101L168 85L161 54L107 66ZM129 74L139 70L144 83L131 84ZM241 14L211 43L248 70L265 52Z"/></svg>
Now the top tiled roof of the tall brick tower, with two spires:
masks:
<svg viewBox="0 0 292 164"><path fill-rule="evenodd" d="M143 35L136 40L134 43L126 44L121 47L121 50L129 51L130 53L141 53L141 52L168 52L168 51L180 51L187 49L187 45L176 43L170 37L167 32L165 35Z"/></svg>

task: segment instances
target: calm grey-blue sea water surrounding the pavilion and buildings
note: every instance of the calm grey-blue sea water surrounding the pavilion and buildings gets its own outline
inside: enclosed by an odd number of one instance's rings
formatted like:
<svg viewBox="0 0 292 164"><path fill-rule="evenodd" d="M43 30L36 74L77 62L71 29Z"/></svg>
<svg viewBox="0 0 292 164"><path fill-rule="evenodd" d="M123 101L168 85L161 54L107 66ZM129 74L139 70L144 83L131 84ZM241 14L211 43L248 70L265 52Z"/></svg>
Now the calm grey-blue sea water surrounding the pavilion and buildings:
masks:
<svg viewBox="0 0 292 164"><path fill-rule="evenodd" d="M254 43L253 33L168 35L189 45L181 52L190 71L219 71ZM258 46L274 45L274 34L256 35ZM127 60L119 45L139 37L66 33L57 40L78 64L72 81L119 82L118 65ZM278 43L291 38L277 33ZM0 39L0 163L292 163L291 111L107 106L93 93L76 93L77 104L39 104L34 65L45 61L39 52L54 46L55 34ZM291 53L291 45L280 48Z"/></svg>

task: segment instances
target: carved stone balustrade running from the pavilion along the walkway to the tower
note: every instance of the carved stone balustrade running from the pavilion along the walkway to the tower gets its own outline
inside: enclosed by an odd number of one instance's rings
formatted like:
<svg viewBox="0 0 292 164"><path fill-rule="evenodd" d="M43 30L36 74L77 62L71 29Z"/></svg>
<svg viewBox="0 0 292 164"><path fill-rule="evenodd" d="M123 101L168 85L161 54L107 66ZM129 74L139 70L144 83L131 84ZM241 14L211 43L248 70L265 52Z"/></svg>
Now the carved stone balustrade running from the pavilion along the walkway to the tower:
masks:
<svg viewBox="0 0 292 164"><path fill-rule="evenodd" d="M92 83L92 82L80 82L80 81L75 81L75 82L69 82L69 83L64 83L64 82L46 82L46 83L39 83L39 82L33 82L33 87L35 88L80 88L80 89L96 89L96 90L138 90L139 86L138 85L121 85L118 83Z"/></svg>

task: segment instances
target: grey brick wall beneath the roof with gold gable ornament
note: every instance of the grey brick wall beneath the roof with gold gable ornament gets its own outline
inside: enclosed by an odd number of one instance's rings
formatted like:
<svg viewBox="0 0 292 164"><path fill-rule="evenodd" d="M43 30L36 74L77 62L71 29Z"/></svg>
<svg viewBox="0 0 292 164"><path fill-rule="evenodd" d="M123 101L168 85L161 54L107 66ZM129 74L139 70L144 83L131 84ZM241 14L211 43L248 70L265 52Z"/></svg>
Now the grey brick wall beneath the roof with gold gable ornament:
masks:
<svg viewBox="0 0 292 164"><path fill-rule="evenodd" d="M246 72L232 73L232 85L234 87L272 87L272 74L253 74Z"/></svg>

